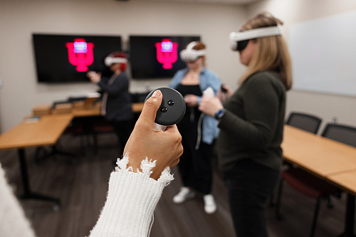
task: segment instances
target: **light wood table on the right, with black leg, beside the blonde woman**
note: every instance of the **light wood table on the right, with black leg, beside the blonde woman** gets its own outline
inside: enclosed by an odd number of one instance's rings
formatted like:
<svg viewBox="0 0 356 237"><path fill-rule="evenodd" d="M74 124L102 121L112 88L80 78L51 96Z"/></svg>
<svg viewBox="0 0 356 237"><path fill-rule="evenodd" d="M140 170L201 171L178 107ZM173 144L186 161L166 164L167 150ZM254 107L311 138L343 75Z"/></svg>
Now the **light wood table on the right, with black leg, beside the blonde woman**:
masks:
<svg viewBox="0 0 356 237"><path fill-rule="evenodd" d="M283 158L347 191L345 231L355 237L356 147L284 126Z"/></svg>

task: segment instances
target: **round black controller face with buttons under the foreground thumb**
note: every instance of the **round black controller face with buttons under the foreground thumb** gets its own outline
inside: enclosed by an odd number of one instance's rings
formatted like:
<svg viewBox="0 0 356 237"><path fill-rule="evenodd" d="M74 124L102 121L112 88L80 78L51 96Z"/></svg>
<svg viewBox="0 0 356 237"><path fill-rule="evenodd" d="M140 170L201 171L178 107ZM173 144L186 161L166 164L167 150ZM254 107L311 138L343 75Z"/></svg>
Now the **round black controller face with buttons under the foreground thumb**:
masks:
<svg viewBox="0 0 356 237"><path fill-rule="evenodd" d="M156 90L162 92L162 103L157 110L155 122L164 126L175 125L182 120L185 113L183 96L172 88L157 88ZM145 101L148 100L154 92L155 90L152 90L152 92L147 95Z"/></svg>

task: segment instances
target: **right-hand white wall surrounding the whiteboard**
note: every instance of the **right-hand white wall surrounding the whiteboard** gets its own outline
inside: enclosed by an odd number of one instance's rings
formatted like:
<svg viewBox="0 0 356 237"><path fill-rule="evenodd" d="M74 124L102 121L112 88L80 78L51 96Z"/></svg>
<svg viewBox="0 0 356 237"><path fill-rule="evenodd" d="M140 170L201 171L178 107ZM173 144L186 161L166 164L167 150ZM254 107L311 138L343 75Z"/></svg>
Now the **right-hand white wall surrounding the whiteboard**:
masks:
<svg viewBox="0 0 356 237"><path fill-rule="evenodd" d="M355 0L268 0L251 4L247 7L248 18L260 11L269 11L285 23L283 34L288 43L288 26L293 23L310 21L322 17L356 11ZM350 22L350 31L355 31L355 22ZM308 37L308 36L307 36ZM333 46L335 47L335 46ZM337 47L337 46L336 46ZM356 46L355 46L356 47ZM355 51L355 49L352 49ZM293 60L293 58L292 58ZM350 62L355 63L355 61ZM354 78L356 79L356 78ZM335 78L337 80L337 78ZM356 88L355 88L356 90ZM337 122L356 126L356 97L306 91L291 90L288 92L287 112L291 110L309 112L323 118L325 122Z"/></svg>

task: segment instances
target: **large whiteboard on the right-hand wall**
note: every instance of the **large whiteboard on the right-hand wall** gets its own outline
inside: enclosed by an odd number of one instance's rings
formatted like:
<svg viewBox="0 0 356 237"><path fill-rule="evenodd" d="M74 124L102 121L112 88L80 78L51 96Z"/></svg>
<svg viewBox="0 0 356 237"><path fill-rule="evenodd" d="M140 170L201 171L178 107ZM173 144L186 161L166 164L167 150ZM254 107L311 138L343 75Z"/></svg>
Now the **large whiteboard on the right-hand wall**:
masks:
<svg viewBox="0 0 356 237"><path fill-rule="evenodd" d="M293 89L356 96L356 11L289 30Z"/></svg>

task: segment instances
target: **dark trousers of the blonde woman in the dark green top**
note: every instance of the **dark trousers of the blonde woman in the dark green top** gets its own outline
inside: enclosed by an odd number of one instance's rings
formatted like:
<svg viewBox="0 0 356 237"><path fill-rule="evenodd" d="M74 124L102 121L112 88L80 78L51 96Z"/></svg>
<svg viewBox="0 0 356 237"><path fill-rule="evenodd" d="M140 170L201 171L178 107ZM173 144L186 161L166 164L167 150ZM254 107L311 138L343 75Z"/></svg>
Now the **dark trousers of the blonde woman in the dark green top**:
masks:
<svg viewBox="0 0 356 237"><path fill-rule="evenodd" d="M224 177L237 237L266 237L265 210L280 172L251 160L238 162Z"/></svg>

